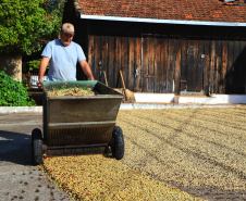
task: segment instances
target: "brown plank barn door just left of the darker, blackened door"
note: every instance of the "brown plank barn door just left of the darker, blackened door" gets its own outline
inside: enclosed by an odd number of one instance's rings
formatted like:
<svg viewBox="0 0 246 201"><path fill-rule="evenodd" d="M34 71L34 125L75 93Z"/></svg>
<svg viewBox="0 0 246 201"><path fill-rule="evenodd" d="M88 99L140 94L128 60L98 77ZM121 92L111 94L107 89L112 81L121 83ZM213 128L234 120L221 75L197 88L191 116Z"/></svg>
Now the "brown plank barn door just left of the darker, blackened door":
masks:
<svg viewBox="0 0 246 201"><path fill-rule="evenodd" d="M179 60L177 40L144 36L142 42L143 91L173 92L175 66Z"/></svg>

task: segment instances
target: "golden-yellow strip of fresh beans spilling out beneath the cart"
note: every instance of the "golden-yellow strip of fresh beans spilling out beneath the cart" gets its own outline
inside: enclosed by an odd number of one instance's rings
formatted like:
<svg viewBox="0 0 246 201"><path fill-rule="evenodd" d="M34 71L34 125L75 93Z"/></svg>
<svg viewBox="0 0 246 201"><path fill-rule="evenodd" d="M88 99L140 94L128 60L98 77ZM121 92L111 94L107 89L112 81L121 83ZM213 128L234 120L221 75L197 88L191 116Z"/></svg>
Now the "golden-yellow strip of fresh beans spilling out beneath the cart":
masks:
<svg viewBox="0 0 246 201"><path fill-rule="evenodd" d="M40 168L77 201L202 200L103 155L47 158Z"/></svg>

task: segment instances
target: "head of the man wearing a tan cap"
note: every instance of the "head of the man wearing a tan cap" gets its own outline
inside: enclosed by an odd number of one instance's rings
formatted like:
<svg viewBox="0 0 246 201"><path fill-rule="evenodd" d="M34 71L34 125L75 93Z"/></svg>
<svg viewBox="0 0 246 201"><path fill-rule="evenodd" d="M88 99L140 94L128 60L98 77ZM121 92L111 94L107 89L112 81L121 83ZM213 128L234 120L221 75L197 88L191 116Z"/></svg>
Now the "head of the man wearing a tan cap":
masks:
<svg viewBox="0 0 246 201"><path fill-rule="evenodd" d="M74 26L70 23L65 23L62 25L62 29L60 33L61 43L63 46L70 46L74 36Z"/></svg>

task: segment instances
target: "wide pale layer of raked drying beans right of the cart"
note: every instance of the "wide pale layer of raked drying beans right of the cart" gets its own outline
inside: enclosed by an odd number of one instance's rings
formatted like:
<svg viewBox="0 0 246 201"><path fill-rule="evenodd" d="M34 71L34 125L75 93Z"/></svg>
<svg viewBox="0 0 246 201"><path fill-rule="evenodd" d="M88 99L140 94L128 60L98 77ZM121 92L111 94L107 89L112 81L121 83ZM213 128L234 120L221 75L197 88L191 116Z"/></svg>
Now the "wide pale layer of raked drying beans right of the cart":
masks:
<svg viewBox="0 0 246 201"><path fill-rule="evenodd" d="M123 164L208 200L246 200L246 106L120 111Z"/></svg>

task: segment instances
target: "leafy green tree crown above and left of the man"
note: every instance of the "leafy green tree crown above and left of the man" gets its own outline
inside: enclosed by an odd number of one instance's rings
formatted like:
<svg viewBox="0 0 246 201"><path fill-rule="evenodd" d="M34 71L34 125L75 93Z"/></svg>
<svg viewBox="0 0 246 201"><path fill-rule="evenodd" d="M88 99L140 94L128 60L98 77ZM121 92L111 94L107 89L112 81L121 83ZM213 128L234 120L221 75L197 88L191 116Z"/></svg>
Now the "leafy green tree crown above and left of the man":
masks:
<svg viewBox="0 0 246 201"><path fill-rule="evenodd" d="M0 52L39 51L58 36L63 4L64 0L1 0Z"/></svg>

